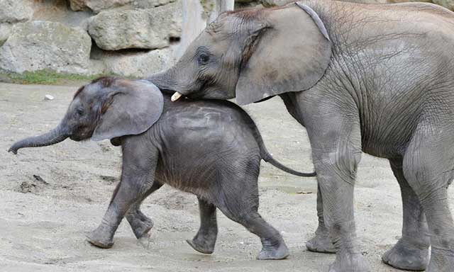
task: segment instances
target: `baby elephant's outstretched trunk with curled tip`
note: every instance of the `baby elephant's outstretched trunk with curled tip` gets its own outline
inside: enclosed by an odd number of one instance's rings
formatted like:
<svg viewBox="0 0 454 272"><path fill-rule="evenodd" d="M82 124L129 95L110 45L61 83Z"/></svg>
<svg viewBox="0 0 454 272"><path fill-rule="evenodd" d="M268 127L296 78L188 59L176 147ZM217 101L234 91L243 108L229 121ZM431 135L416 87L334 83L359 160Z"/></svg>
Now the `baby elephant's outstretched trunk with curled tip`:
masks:
<svg viewBox="0 0 454 272"><path fill-rule="evenodd" d="M64 131L62 125L58 125L57 128L50 130L50 132L43 135L28 137L26 139L20 140L10 147L8 152L13 152L17 154L18 149L23 147L46 147L48 145L55 145L59 142L62 142L67 137L68 133Z"/></svg>

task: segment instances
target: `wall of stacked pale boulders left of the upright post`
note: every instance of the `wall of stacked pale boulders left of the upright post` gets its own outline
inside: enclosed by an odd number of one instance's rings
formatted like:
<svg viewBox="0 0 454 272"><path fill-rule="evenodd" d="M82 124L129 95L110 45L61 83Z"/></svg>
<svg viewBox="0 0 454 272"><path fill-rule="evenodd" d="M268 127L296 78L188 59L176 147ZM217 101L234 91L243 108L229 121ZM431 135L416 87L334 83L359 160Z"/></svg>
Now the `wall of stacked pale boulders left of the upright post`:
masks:
<svg viewBox="0 0 454 272"><path fill-rule="evenodd" d="M182 0L0 0L0 69L144 77L181 30Z"/></svg>

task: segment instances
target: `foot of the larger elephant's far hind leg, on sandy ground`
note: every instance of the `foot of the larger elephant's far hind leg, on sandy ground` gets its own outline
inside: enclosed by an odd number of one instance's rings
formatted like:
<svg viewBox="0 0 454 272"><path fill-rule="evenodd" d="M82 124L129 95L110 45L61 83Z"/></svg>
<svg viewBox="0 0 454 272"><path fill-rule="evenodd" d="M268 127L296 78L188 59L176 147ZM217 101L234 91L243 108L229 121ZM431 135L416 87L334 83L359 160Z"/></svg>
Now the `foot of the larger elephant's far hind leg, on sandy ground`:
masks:
<svg viewBox="0 0 454 272"><path fill-rule="evenodd" d="M428 246L421 248L421 246L415 246L401 238L392 249L383 254L382 260L397 269L424 271L429 261Z"/></svg>

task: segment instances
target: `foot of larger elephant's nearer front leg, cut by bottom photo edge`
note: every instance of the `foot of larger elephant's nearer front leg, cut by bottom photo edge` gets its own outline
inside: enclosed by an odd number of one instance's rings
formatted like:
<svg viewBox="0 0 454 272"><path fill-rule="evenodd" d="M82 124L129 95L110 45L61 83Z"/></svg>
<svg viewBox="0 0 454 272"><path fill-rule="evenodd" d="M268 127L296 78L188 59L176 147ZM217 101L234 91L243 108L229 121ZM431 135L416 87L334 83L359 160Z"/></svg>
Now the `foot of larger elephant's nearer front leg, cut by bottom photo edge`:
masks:
<svg viewBox="0 0 454 272"><path fill-rule="evenodd" d="M329 272L370 272L370 269L360 253L338 253L336 261L329 268Z"/></svg>

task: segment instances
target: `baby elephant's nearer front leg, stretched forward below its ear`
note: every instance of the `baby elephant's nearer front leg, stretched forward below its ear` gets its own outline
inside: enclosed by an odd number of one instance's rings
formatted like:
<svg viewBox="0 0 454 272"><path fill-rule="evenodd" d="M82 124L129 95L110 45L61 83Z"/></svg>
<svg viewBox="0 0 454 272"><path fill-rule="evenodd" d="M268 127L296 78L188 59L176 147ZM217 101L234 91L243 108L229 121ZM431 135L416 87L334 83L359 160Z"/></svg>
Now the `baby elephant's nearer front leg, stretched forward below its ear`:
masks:
<svg viewBox="0 0 454 272"><path fill-rule="evenodd" d="M153 146L140 145L142 142L123 142L121 181L101 224L87 235L88 241L95 246L110 248L114 245L114 234L126 212L153 186L159 153Z"/></svg>

